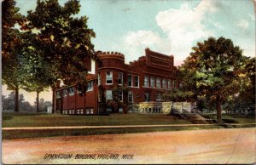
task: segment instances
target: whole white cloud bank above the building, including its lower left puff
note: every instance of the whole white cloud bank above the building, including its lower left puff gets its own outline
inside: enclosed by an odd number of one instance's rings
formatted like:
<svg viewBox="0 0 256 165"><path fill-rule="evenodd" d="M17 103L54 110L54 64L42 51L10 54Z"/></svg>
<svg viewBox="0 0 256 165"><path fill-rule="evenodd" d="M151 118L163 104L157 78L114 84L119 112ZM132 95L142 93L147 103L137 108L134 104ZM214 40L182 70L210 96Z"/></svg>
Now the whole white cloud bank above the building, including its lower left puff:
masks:
<svg viewBox="0 0 256 165"><path fill-rule="evenodd" d="M137 57L137 50L142 52L149 47L163 54L173 54L175 65L179 65L189 55L193 44L202 38L214 36L204 26L203 20L217 11L218 3L215 1L201 1L195 8L189 3L183 3L180 9L160 11L155 20L164 35L160 37L154 31L131 31L125 36L125 54ZM220 27L217 24L215 26ZM128 56L129 59L136 60L131 55Z"/></svg>

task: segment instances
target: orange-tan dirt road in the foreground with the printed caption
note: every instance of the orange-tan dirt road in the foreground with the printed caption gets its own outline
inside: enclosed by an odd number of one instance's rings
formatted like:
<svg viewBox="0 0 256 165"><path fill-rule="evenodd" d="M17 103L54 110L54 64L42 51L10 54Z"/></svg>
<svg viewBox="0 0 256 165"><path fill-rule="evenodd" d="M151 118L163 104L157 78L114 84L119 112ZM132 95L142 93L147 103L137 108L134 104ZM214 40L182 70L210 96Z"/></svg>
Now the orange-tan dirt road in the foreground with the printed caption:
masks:
<svg viewBox="0 0 256 165"><path fill-rule="evenodd" d="M60 153L73 154L73 156L67 159L63 159L63 157L50 159L50 155L48 155L48 158L44 159L46 154ZM87 159L81 157L75 159L76 154L84 154L83 156L87 156ZM109 157L110 154L119 155ZM124 154L129 156L122 159ZM95 159L93 156L96 156ZM108 159L104 159L106 156ZM223 164L253 163L255 156L256 128L104 134L3 141L4 163Z"/></svg>

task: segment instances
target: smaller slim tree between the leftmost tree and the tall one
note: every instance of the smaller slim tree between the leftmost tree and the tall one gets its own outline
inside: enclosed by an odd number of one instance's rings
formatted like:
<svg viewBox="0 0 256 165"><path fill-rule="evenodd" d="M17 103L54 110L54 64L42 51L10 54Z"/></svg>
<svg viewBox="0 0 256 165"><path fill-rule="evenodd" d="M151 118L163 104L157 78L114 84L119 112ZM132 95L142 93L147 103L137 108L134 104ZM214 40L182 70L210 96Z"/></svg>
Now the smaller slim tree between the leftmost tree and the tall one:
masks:
<svg viewBox="0 0 256 165"><path fill-rule="evenodd" d="M37 49L35 44L38 43L36 35L31 32L25 32L24 47L22 54L22 69L26 72L24 81L24 89L28 92L37 92L37 111L39 112L39 93L44 91L44 88L55 83L55 75L50 72L50 65L42 58L42 51Z"/></svg>

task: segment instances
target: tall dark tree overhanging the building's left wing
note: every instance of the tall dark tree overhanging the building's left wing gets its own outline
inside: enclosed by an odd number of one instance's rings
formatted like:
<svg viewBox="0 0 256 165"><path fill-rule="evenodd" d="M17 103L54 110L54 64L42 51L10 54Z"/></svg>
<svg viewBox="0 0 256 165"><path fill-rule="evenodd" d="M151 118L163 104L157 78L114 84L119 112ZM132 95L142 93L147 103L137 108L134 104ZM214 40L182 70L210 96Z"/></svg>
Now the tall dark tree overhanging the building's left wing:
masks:
<svg viewBox="0 0 256 165"><path fill-rule="evenodd" d="M37 49L42 59L49 64L48 71L54 73L55 81L66 84L79 83L81 94L86 93L87 68L85 57L96 59L91 38L95 37L88 28L86 16L75 18L80 9L79 1L70 0L61 6L57 0L38 0L34 11L28 11L28 24L24 30L37 31ZM96 59L97 60L97 59ZM51 84L53 91L55 83ZM53 111L54 111L53 93Z"/></svg>

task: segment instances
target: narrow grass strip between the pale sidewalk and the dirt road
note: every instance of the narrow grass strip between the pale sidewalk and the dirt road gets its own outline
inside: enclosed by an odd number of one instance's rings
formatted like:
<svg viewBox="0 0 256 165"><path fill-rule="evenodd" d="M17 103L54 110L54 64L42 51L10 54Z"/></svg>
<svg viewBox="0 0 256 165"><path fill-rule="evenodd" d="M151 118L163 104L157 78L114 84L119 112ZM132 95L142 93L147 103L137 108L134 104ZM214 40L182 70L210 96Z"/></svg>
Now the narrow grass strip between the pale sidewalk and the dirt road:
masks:
<svg viewBox="0 0 256 165"><path fill-rule="evenodd" d="M207 126L176 126L176 127L150 127L150 128L73 128L73 129L38 129L38 130L3 130L3 139L43 138L54 136L79 136L96 134L129 134L147 133L157 131L180 131L197 129L223 128L218 125Z"/></svg>

